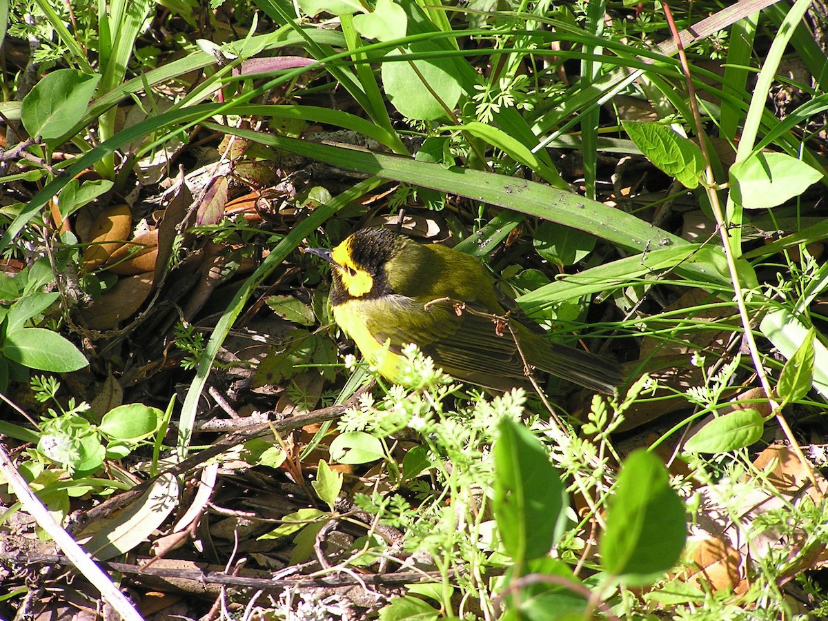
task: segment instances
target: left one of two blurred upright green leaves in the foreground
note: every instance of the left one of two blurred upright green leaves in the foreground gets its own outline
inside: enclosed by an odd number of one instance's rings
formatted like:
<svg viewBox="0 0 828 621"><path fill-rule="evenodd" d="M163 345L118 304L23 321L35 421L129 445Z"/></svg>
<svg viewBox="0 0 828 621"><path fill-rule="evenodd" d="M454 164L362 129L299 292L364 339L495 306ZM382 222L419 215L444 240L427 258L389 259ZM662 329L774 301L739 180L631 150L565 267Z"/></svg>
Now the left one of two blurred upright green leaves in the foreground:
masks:
<svg viewBox="0 0 828 621"><path fill-rule="evenodd" d="M494 518L516 563L545 556L566 525L566 490L546 449L520 423L504 418L494 453Z"/></svg>

